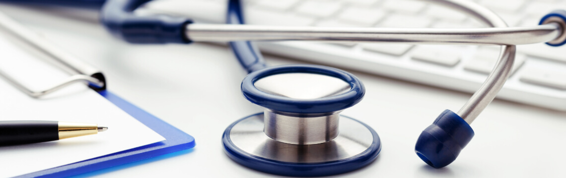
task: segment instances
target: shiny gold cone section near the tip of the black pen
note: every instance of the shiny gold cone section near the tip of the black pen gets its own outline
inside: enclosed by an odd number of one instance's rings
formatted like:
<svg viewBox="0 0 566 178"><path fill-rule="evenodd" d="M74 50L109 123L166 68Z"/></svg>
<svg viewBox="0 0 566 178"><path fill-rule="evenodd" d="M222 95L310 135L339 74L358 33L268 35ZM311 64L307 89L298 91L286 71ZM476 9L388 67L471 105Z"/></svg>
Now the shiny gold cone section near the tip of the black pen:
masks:
<svg viewBox="0 0 566 178"><path fill-rule="evenodd" d="M59 140L98 133L98 124L59 122Z"/></svg>

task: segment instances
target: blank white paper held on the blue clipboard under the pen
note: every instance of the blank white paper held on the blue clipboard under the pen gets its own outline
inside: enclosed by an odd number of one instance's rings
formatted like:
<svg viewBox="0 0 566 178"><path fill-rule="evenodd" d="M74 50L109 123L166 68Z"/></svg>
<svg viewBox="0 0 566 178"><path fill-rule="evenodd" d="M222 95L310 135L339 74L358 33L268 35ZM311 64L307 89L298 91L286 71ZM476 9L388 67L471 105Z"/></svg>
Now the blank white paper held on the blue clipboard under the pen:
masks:
<svg viewBox="0 0 566 178"><path fill-rule="evenodd" d="M0 35L0 70L35 90L69 75ZM48 143L0 146L0 177L12 177L165 140L82 83L33 99L0 77L0 121L97 123L108 130Z"/></svg>

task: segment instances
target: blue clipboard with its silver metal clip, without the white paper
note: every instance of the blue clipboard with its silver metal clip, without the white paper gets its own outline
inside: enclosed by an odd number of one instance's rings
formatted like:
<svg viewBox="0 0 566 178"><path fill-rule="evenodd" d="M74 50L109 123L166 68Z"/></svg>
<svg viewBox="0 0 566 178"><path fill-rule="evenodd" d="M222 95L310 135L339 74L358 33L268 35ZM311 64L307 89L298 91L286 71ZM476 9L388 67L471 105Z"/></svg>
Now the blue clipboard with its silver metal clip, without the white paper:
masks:
<svg viewBox="0 0 566 178"><path fill-rule="evenodd" d="M70 73L71 76L65 81L58 83L46 90L33 91L20 83L10 75L0 70L0 77L5 78L9 83L24 92L30 97L42 97L54 91L65 88L72 83L83 82L88 84L90 88L97 91L98 94L105 97L110 103L118 106L118 108L130 114L132 117L151 128L166 140L153 144L139 146L138 148L123 150L121 152L107 154L101 157L87 159L84 161L49 168L47 170L27 173L17 177L67 177L80 175L82 173L102 170L119 166L121 164L141 161L159 155L179 152L181 150L191 149L195 146L194 137L171 126L152 114L145 112L143 109L129 103L121 97L106 90L106 80L100 70L76 60L75 57L68 55L67 52L55 47L52 43L37 35L34 32L24 28L16 21L0 13L0 30L10 34L11 37L17 39L20 43L24 43L33 52L39 52L44 56L48 56L48 60L61 70Z"/></svg>

